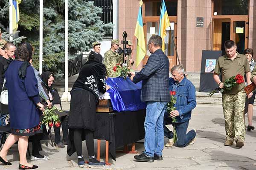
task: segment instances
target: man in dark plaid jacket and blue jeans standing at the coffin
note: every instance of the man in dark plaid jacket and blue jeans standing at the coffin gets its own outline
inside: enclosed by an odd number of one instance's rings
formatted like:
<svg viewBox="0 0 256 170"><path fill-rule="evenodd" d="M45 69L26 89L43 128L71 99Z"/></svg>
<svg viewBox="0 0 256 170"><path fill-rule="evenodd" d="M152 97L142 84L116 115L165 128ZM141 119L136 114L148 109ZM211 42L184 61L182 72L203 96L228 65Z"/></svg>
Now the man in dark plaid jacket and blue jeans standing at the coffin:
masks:
<svg viewBox="0 0 256 170"><path fill-rule="evenodd" d="M142 80L141 100L147 102L145 127L145 151L134 156L137 161L154 162L163 160L163 116L169 94L169 60L163 53L162 38L153 35L148 41L151 56L145 67L136 75L131 72L134 83Z"/></svg>

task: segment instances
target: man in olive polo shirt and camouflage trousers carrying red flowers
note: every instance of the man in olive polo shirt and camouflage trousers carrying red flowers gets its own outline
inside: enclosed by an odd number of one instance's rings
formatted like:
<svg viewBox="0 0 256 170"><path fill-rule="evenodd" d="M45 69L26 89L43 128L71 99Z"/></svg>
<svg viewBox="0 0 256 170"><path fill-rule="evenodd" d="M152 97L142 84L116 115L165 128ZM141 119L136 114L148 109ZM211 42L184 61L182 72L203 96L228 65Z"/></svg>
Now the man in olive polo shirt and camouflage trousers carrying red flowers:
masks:
<svg viewBox="0 0 256 170"><path fill-rule="evenodd" d="M240 74L246 74L247 84L250 84L250 65L247 58L243 54L236 52L236 44L232 40L228 40L224 44L226 55L218 58L214 69L213 78L219 85L219 88L224 87L224 81L230 77ZM222 80L220 80L221 74ZM225 146L231 146L233 141L236 142L236 147L244 146L245 125L244 125L244 105L245 92L244 83L234 86L230 91L222 93L222 106L225 118L226 141ZM248 95L248 98L252 93Z"/></svg>

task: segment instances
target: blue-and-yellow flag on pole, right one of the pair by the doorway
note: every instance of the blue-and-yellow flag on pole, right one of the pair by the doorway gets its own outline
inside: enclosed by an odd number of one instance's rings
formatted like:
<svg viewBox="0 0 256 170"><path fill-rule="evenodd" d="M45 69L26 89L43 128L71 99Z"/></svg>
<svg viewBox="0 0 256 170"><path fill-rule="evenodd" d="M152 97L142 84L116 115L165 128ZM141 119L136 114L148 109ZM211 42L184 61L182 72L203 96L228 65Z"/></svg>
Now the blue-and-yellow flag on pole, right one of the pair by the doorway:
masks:
<svg viewBox="0 0 256 170"><path fill-rule="evenodd" d="M166 37L166 28L170 27L170 21L168 17L168 13L166 10L165 2L162 0L162 8L161 8L161 14L160 14L160 23L159 23L159 32L158 35L162 37L163 45L162 50L164 52L164 37Z"/></svg>

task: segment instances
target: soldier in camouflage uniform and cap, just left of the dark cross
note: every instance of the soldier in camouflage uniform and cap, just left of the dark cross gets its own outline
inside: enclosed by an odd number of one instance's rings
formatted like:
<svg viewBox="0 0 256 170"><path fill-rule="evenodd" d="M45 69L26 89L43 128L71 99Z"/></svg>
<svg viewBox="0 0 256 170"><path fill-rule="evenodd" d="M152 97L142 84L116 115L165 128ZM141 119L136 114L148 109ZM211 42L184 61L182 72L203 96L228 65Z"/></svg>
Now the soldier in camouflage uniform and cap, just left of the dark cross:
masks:
<svg viewBox="0 0 256 170"><path fill-rule="evenodd" d="M123 57L119 55L116 50L119 48L119 40L111 41L111 48L105 52L104 58L108 77L116 77L116 73L113 71L113 67L116 64L122 64Z"/></svg>

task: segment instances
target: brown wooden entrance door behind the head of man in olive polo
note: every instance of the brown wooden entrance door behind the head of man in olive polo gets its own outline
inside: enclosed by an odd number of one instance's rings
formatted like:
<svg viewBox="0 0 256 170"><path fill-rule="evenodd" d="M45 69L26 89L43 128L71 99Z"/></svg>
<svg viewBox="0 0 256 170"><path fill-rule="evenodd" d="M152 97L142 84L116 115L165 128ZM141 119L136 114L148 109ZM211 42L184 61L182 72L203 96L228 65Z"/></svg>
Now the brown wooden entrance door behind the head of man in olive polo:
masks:
<svg viewBox="0 0 256 170"><path fill-rule="evenodd" d="M247 16L227 16L224 18L214 18L212 20L212 49L224 51L224 42L233 40L236 42L237 51L241 54L248 48L248 17Z"/></svg>

